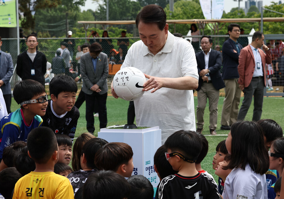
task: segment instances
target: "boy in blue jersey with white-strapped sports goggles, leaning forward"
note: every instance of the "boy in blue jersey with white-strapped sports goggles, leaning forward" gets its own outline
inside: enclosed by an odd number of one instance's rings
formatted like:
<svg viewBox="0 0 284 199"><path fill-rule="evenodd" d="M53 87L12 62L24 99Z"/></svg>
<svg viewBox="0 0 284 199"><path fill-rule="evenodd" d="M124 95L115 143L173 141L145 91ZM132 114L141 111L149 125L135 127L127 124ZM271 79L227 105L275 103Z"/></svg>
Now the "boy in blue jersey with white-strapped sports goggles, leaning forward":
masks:
<svg viewBox="0 0 284 199"><path fill-rule="evenodd" d="M20 108L0 120L0 159L5 147L16 141L27 141L29 132L42 125L47 108L47 95L43 85L34 80L17 81L13 96ZM6 166L0 163L0 170Z"/></svg>

